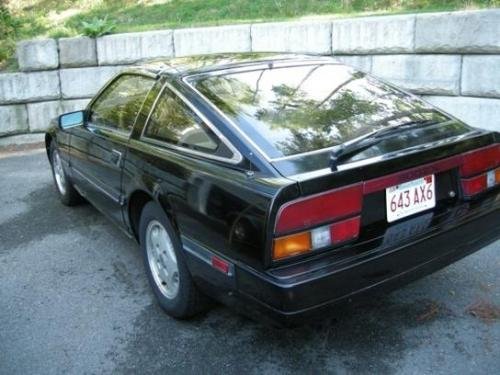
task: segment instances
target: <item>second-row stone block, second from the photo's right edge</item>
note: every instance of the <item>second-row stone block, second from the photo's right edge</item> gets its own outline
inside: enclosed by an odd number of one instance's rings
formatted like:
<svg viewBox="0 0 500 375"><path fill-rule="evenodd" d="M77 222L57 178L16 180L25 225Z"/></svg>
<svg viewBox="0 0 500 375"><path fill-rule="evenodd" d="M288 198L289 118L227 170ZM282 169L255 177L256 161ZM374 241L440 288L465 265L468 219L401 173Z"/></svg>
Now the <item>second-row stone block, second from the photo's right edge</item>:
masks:
<svg viewBox="0 0 500 375"><path fill-rule="evenodd" d="M460 62L455 55L379 55L372 74L418 94L458 95Z"/></svg>

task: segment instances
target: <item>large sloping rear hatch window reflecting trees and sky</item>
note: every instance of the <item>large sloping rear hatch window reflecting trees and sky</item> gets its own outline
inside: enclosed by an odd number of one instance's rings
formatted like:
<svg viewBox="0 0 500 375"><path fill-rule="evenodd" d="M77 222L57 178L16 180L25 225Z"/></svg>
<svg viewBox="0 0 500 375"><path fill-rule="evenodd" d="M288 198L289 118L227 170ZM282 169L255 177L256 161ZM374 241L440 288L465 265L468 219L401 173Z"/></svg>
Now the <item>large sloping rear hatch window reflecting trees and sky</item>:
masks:
<svg viewBox="0 0 500 375"><path fill-rule="evenodd" d="M446 119L419 99L334 63L191 83L271 159L333 147L388 125Z"/></svg>

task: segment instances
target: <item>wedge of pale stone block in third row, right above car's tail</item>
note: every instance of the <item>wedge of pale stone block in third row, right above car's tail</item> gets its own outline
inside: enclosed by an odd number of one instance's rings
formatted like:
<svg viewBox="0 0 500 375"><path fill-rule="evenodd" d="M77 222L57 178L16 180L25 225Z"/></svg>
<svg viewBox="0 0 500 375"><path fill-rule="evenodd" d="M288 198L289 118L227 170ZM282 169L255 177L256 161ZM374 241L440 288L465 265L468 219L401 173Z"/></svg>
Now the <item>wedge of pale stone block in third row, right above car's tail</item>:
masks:
<svg viewBox="0 0 500 375"><path fill-rule="evenodd" d="M423 99L471 126L500 132L500 99L465 96L423 96Z"/></svg>

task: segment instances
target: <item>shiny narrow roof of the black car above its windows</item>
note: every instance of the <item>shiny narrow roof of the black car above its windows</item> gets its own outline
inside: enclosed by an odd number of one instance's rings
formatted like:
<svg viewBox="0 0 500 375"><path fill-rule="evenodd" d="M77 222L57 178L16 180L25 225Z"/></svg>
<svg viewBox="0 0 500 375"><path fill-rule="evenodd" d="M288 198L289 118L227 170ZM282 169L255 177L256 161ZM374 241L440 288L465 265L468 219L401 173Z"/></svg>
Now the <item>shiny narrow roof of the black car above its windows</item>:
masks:
<svg viewBox="0 0 500 375"><path fill-rule="evenodd" d="M158 59L142 62L134 68L146 70L154 74L168 74L186 76L213 70L262 64L272 61L304 61L310 59L329 59L319 55L300 55L283 53L224 53L211 55L195 55L189 57L176 57L171 59Z"/></svg>

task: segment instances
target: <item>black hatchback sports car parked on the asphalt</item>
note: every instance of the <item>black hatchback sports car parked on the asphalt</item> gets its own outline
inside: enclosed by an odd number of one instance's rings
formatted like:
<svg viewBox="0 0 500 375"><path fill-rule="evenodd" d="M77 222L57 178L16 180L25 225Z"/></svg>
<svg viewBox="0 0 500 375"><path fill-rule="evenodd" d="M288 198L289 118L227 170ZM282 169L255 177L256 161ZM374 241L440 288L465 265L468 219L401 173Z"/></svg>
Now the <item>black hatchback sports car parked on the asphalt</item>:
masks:
<svg viewBox="0 0 500 375"><path fill-rule="evenodd" d="M52 125L62 202L135 237L175 317L292 323L500 237L500 134L330 57L144 64Z"/></svg>

